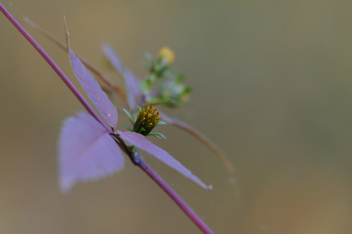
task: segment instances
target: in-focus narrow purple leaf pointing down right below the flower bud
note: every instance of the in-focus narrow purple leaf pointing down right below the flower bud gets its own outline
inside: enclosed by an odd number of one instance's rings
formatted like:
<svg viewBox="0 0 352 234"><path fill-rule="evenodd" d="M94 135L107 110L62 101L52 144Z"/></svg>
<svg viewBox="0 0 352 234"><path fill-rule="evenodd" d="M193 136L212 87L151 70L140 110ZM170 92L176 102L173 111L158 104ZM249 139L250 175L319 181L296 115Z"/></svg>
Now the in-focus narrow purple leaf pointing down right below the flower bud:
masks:
<svg viewBox="0 0 352 234"><path fill-rule="evenodd" d="M133 132L120 132L120 131L117 131L117 134L119 134L120 137L123 140L127 141L129 144L134 145L135 147L138 147L141 150L144 150L150 153L151 155L153 155L154 157L156 157L157 159L159 159L169 167L177 170L185 177L196 182L204 189L211 189L211 185L207 186L206 184L204 184L197 176L193 175L190 170L188 170L179 161L177 161L170 154L168 154L167 151L151 143L142 134L133 133Z"/></svg>

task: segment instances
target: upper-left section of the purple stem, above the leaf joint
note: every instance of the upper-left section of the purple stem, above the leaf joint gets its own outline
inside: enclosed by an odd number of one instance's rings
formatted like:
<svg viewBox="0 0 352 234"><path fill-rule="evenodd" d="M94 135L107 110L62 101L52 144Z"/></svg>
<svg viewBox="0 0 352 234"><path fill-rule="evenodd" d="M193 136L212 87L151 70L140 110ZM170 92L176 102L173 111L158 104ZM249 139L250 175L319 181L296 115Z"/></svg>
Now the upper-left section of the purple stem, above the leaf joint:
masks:
<svg viewBox="0 0 352 234"><path fill-rule="evenodd" d="M33 39L33 37L27 33L27 31L17 22L17 20L7 11L7 9L0 3L0 11L11 21L13 25L18 29L20 33L32 44L32 46L37 50L43 58L48 62L50 67L60 76L61 80L67 85L67 87L72 91L76 98L82 103L84 108L91 114L102 126L109 130L104 122L101 120L101 117L94 111L94 109L89 105L89 103L84 99L82 94L77 90L77 88L71 83L67 78L65 73L58 67L55 62L50 58L50 56L39 46L39 44Z"/></svg>

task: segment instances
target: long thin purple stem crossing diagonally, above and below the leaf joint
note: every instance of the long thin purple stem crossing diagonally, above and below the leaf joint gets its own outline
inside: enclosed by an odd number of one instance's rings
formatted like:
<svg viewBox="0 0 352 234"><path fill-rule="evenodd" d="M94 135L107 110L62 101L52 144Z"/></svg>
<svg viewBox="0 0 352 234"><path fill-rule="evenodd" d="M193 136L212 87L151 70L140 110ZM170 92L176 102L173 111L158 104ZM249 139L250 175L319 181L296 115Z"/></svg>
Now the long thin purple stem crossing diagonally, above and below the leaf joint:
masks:
<svg viewBox="0 0 352 234"><path fill-rule="evenodd" d="M84 99L77 88L69 81L64 72L55 64L55 62L49 57L49 55L39 46L39 44L33 39L33 37L27 33L27 31L17 22L17 20L7 11L7 9L0 3L0 11L13 23L13 25L18 29L20 33L34 46L34 48L43 56L43 58L49 63L49 65L54 69L54 71L60 76L67 87L72 91L72 93L81 101L85 109L91 114L98 122L101 123L107 130L108 128L94 111L94 109L89 105L89 103ZM130 157L132 155L129 155ZM135 160L133 160L135 161ZM153 170L149 167L140 157L134 162L143 171L145 171L155 183L157 183L168 196L176 202L176 204L184 211L184 213L201 229L205 234L213 234L213 231L201 220L201 218L182 200L182 198Z"/></svg>

